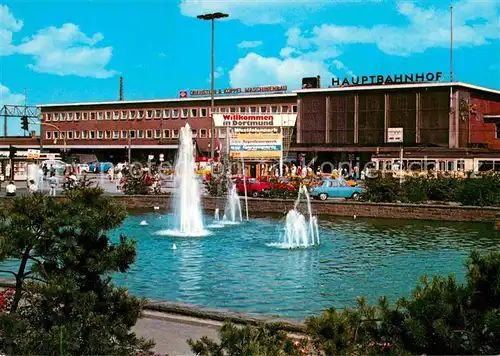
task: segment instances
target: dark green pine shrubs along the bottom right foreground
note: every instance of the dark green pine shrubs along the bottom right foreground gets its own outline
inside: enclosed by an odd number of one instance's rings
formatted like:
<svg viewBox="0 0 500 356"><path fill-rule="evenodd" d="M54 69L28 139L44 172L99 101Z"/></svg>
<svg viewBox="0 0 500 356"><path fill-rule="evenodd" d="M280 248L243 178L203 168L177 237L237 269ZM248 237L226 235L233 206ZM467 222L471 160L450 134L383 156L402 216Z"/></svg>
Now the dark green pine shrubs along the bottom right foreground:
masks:
<svg viewBox="0 0 500 356"><path fill-rule="evenodd" d="M417 285L411 298L394 307L386 297L376 305L331 308L306 320L313 355L488 355L500 353L500 253L471 253L465 284L453 276ZM189 342L198 355L296 355L289 340L265 326L226 325L221 342ZM271 352L271 353L267 353Z"/></svg>

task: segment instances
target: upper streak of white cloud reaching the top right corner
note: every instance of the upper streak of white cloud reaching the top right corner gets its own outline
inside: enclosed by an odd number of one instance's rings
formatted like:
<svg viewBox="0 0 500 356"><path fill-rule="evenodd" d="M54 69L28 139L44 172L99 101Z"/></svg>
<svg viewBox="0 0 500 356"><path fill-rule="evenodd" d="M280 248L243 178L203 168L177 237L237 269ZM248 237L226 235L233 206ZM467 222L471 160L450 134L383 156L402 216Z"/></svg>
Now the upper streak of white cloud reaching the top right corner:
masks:
<svg viewBox="0 0 500 356"><path fill-rule="evenodd" d="M450 45L449 9L418 7L412 2L397 4L406 17L404 26L378 24L373 27L324 24L301 33L294 29L294 42L302 47L329 48L350 44L376 45L389 55L408 56L429 48ZM454 4L453 40L456 48L487 44L500 39L500 2L462 0ZM290 32L290 31L289 31Z"/></svg>

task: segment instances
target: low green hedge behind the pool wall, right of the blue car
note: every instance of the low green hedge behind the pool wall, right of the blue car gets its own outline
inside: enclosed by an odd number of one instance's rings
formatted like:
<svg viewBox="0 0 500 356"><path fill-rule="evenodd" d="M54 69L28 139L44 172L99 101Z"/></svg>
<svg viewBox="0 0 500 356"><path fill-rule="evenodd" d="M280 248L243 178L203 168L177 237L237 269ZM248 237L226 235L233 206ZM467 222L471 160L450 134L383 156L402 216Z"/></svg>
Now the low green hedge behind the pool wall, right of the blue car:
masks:
<svg viewBox="0 0 500 356"><path fill-rule="evenodd" d="M409 177L399 184L396 178L365 180L363 200L372 202L425 203L454 202L472 206L500 205L500 174L479 177Z"/></svg>

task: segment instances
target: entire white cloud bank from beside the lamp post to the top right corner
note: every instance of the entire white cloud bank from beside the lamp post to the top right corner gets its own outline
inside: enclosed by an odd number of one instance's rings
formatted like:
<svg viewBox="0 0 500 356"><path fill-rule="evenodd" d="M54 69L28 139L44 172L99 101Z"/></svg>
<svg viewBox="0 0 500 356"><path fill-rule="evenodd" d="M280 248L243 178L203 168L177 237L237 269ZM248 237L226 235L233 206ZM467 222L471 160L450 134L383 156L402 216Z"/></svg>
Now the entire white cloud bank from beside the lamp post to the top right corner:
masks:
<svg viewBox="0 0 500 356"><path fill-rule="evenodd" d="M303 77L356 76L339 56L346 45L376 45L389 55L407 56L450 44L449 8L419 7L412 2L397 4L406 18L401 26L378 24L372 27L324 24L310 31L290 28L286 45L278 57L249 53L229 72L231 86L286 84L300 87ZM454 4L454 45L476 46L500 39L500 2L461 0Z"/></svg>

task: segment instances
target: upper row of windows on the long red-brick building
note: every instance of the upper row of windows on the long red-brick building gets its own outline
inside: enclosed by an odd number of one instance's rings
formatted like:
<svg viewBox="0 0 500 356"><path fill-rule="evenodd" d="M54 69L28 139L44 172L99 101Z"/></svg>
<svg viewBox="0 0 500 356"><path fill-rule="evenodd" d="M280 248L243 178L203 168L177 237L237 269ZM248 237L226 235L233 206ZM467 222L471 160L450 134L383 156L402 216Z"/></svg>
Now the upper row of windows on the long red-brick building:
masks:
<svg viewBox="0 0 500 356"><path fill-rule="evenodd" d="M297 105L271 106L230 106L217 107L216 113L296 113ZM187 119L203 118L210 115L208 108L192 109L148 109L148 110L115 110L115 111L83 111L46 113L45 121L80 121L80 120L141 120L141 119Z"/></svg>

